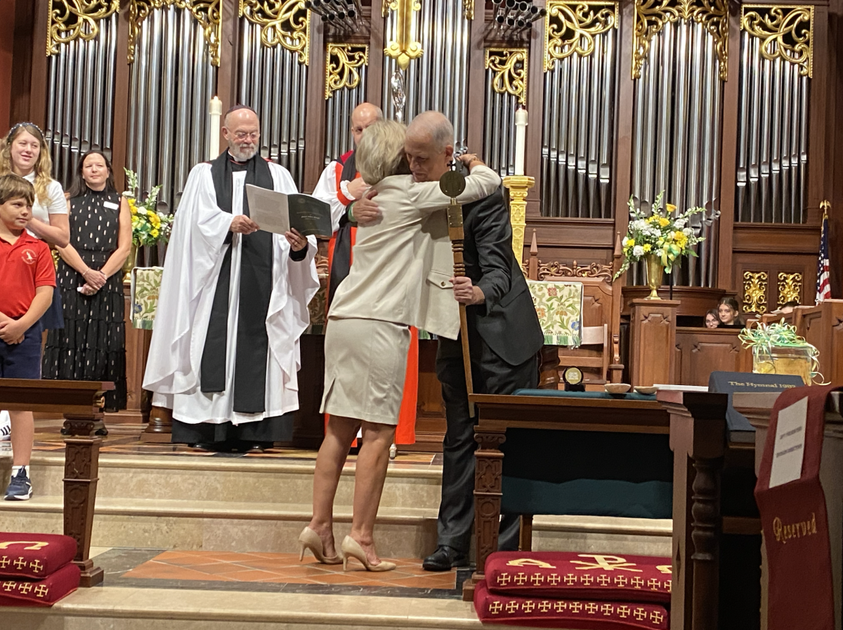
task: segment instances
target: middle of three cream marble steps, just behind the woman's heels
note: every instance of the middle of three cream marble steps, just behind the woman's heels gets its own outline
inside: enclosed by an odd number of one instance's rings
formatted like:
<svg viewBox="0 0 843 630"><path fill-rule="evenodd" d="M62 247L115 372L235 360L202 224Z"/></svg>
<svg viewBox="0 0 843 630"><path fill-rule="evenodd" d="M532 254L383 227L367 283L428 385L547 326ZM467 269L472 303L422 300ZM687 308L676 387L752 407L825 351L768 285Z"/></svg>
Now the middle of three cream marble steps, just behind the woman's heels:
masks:
<svg viewBox="0 0 843 630"><path fill-rule="evenodd" d="M98 496L93 544L205 551L293 553L311 505ZM375 536L386 557L423 558L436 547L437 510L382 504ZM335 535L351 529L351 506L337 505ZM62 497L0 502L0 531L62 531ZM536 551L669 556L671 522L595 516L536 516Z"/></svg>

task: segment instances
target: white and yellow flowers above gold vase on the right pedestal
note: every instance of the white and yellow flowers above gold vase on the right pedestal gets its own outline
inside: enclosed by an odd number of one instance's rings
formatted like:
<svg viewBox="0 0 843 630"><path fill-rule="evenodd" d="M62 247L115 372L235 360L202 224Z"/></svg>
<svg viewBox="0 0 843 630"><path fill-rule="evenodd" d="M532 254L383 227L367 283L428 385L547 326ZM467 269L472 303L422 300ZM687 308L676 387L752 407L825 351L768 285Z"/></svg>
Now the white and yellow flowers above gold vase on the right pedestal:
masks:
<svg viewBox="0 0 843 630"><path fill-rule="evenodd" d="M629 269L632 263L647 256L655 256L661 262L664 270L669 274L674 263L679 264L681 256L696 256L694 246L704 241L695 235L688 227L688 218L691 215L704 212L704 208L695 207L686 210L679 216L674 216L676 206L673 204L662 205L664 191L656 197L652 205L652 214L644 216L640 208L636 208L633 197L630 197L630 225L629 231L623 240L624 261L615 274L617 279L622 273Z"/></svg>

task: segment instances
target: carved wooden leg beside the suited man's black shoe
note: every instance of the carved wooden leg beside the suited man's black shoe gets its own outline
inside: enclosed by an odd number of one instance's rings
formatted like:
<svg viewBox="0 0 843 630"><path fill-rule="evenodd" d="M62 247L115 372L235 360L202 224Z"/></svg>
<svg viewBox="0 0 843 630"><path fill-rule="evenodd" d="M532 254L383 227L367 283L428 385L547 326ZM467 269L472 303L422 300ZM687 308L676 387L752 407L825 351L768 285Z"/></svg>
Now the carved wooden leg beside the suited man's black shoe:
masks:
<svg viewBox="0 0 843 630"><path fill-rule="evenodd" d="M497 531L501 526L503 453L507 439L503 431L475 430L480 448L475 451L475 542L477 567L463 585L463 601L474 598L474 585L484 578L486 558L497 551Z"/></svg>

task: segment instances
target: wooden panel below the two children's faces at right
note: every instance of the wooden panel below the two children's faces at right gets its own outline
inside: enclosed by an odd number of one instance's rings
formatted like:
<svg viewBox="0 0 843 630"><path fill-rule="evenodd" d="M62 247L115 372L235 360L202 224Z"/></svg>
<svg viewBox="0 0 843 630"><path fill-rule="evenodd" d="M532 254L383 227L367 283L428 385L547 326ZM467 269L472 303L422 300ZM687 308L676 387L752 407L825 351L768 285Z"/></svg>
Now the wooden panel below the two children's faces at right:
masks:
<svg viewBox="0 0 843 630"><path fill-rule="evenodd" d="M708 385L712 371L752 371L738 328L676 328L676 382Z"/></svg>

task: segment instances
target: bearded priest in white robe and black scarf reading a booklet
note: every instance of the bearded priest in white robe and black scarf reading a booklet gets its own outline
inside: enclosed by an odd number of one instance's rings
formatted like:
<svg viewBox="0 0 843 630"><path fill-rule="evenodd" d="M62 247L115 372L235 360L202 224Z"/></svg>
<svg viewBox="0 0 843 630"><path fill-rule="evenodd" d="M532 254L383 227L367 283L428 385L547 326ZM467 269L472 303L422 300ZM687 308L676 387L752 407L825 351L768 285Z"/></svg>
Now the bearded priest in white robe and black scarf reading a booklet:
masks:
<svg viewBox="0 0 843 630"><path fill-rule="evenodd" d="M228 151L191 170L175 215L143 387L173 410L173 442L228 451L291 439L319 279L313 237L249 218L244 184L298 192L260 157L257 115L238 106L223 124Z"/></svg>

